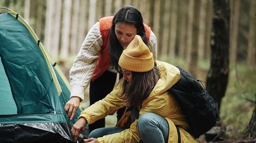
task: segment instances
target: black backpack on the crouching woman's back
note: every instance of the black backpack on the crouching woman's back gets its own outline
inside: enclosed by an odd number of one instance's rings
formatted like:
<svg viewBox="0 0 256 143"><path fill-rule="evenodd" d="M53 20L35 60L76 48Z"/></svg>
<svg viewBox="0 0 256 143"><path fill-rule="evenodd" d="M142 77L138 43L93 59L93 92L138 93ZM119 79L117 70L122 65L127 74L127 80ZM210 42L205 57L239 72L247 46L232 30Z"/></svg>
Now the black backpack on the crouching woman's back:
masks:
<svg viewBox="0 0 256 143"><path fill-rule="evenodd" d="M219 117L218 103L201 86L199 80L179 66L176 67L181 71L181 79L168 91L176 97L189 122L188 132L199 138L216 124Z"/></svg>

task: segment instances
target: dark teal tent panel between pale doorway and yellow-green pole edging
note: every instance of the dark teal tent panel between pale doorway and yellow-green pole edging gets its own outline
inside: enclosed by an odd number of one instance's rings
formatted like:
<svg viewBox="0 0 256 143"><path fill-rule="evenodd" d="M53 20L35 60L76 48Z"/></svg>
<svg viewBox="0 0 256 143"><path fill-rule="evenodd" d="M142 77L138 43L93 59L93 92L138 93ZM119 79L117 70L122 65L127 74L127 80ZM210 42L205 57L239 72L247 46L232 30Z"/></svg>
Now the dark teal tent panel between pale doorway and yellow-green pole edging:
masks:
<svg viewBox="0 0 256 143"><path fill-rule="evenodd" d="M32 35L10 14L5 13L1 17L6 19L0 24L1 60L11 85L17 113L61 110L56 102L51 102L58 101L58 91L50 70L46 68L48 65L44 55Z"/></svg>

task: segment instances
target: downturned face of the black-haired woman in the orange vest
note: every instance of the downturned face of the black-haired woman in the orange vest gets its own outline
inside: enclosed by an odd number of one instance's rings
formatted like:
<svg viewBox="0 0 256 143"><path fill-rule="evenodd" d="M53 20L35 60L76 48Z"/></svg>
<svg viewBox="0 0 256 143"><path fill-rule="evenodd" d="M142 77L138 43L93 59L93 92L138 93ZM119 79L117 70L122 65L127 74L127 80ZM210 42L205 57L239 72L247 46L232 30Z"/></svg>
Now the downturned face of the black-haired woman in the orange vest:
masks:
<svg viewBox="0 0 256 143"><path fill-rule="evenodd" d="M131 23L118 22L115 27L115 33L121 46L126 47L134 39L137 29Z"/></svg>

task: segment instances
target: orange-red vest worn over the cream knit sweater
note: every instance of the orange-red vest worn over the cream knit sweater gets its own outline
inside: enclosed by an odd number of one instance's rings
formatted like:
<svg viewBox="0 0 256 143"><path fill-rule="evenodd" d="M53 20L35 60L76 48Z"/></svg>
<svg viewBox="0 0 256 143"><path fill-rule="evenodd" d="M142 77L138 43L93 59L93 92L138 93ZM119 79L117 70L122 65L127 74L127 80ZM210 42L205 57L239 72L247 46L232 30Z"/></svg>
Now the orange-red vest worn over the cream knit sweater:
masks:
<svg viewBox="0 0 256 143"><path fill-rule="evenodd" d="M110 57L108 54L108 43L109 43L109 33L112 25L114 16L103 17L99 19L99 29L102 36L103 45L101 46L98 62L96 68L93 72L92 81L100 77L109 67ZM149 40L151 28L144 24L146 31L147 41Z"/></svg>

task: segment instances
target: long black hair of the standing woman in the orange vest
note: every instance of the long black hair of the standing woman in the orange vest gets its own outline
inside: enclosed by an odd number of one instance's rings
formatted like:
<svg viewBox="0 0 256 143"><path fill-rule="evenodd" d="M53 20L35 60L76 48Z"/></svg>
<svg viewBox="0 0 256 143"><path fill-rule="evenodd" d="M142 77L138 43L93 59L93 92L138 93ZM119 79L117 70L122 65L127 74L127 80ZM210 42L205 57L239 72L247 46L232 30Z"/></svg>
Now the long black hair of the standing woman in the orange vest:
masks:
<svg viewBox="0 0 256 143"><path fill-rule="evenodd" d="M143 18L141 16L141 13L138 9L132 7L132 6L125 6L121 8L117 13L115 14L112 26L110 30L110 38L109 38L109 44L108 44L108 52L110 56L110 65L113 66L117 72L121 73L122 70L118 65L119 57L121 56L123 52L123 47L120 45L119 41L117 40L117 36L115 33L115 27L118 22L122 23L131 23L133 24L137 32L143 42L148 45L146 40L146 34L145 34L145 28L143 25Z"/></svg>

